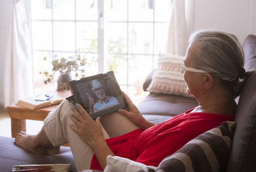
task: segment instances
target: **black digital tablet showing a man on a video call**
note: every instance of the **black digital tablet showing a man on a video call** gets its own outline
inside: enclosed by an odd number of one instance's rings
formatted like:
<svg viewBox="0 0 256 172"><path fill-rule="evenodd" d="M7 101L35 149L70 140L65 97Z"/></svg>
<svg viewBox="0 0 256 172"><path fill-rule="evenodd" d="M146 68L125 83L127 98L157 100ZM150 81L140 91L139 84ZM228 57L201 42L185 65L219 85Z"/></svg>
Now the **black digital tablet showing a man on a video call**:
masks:
<svg viewBox="0 0 256 172"><path fill-rule="evenodd" d="M127 108L113 71L68 82L76 102L93 118Z"/></svg>

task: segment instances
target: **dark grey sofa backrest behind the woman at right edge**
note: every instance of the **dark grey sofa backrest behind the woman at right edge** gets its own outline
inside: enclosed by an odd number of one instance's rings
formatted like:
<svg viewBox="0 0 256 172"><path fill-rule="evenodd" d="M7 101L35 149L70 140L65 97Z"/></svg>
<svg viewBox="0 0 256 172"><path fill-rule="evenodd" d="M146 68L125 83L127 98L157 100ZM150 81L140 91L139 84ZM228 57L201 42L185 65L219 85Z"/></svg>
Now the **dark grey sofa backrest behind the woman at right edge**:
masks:
<svg viewBox="0 0 256 172"><path fill-rule="evenodd" d="M246 71L256 69L256 36L249 35L243 45ZM239 98L227 171L256 170L256 72L249 76Z"/></svg>

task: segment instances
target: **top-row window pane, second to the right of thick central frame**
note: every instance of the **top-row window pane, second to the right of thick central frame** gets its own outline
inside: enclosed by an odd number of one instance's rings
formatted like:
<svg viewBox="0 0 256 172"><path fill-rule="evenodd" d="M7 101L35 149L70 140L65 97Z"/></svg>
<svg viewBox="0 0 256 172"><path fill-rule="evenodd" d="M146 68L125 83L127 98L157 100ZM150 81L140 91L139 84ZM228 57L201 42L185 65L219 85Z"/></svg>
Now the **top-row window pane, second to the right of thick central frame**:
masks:
<svg viewBox="0 0 256 172"><path fill-rule="evenodd" d="M130 21L153 21L154 0L129 0Z"/></svg>

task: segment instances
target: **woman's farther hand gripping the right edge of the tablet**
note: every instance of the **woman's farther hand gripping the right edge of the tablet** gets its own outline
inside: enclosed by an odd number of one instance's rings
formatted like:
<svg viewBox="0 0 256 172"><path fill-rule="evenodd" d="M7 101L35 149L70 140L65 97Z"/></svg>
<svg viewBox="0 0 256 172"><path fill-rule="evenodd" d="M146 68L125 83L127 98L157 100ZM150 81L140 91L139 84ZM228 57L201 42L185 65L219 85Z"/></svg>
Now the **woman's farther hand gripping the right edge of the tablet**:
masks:
<svg viewBox="0 0 256 172"><path fill-rule="evenodd" d="M132 103L131 99L127 96L127 94L124 94L125 100L127 101L127 104L129 106L129 111L120 109L118 110L119 113L124 115L125 117L129 118L134 124L138 125L141 129L145 130L149 127L152 127L153 123L148 122L143 116L141 115L138 108Z"/></svg>

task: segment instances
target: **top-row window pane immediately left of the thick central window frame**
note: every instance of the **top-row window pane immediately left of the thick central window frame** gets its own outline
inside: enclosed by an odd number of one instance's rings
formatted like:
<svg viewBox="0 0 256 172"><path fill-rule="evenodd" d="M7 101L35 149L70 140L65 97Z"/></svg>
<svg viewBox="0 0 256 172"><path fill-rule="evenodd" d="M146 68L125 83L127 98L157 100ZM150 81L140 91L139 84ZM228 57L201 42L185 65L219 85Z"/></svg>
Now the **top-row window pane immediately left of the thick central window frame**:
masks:
<svg viewBox="0 0 256 172"><path fill-rule="evenodd" d="M98 20L97 0L76 0L77 20Z"/></svg>

